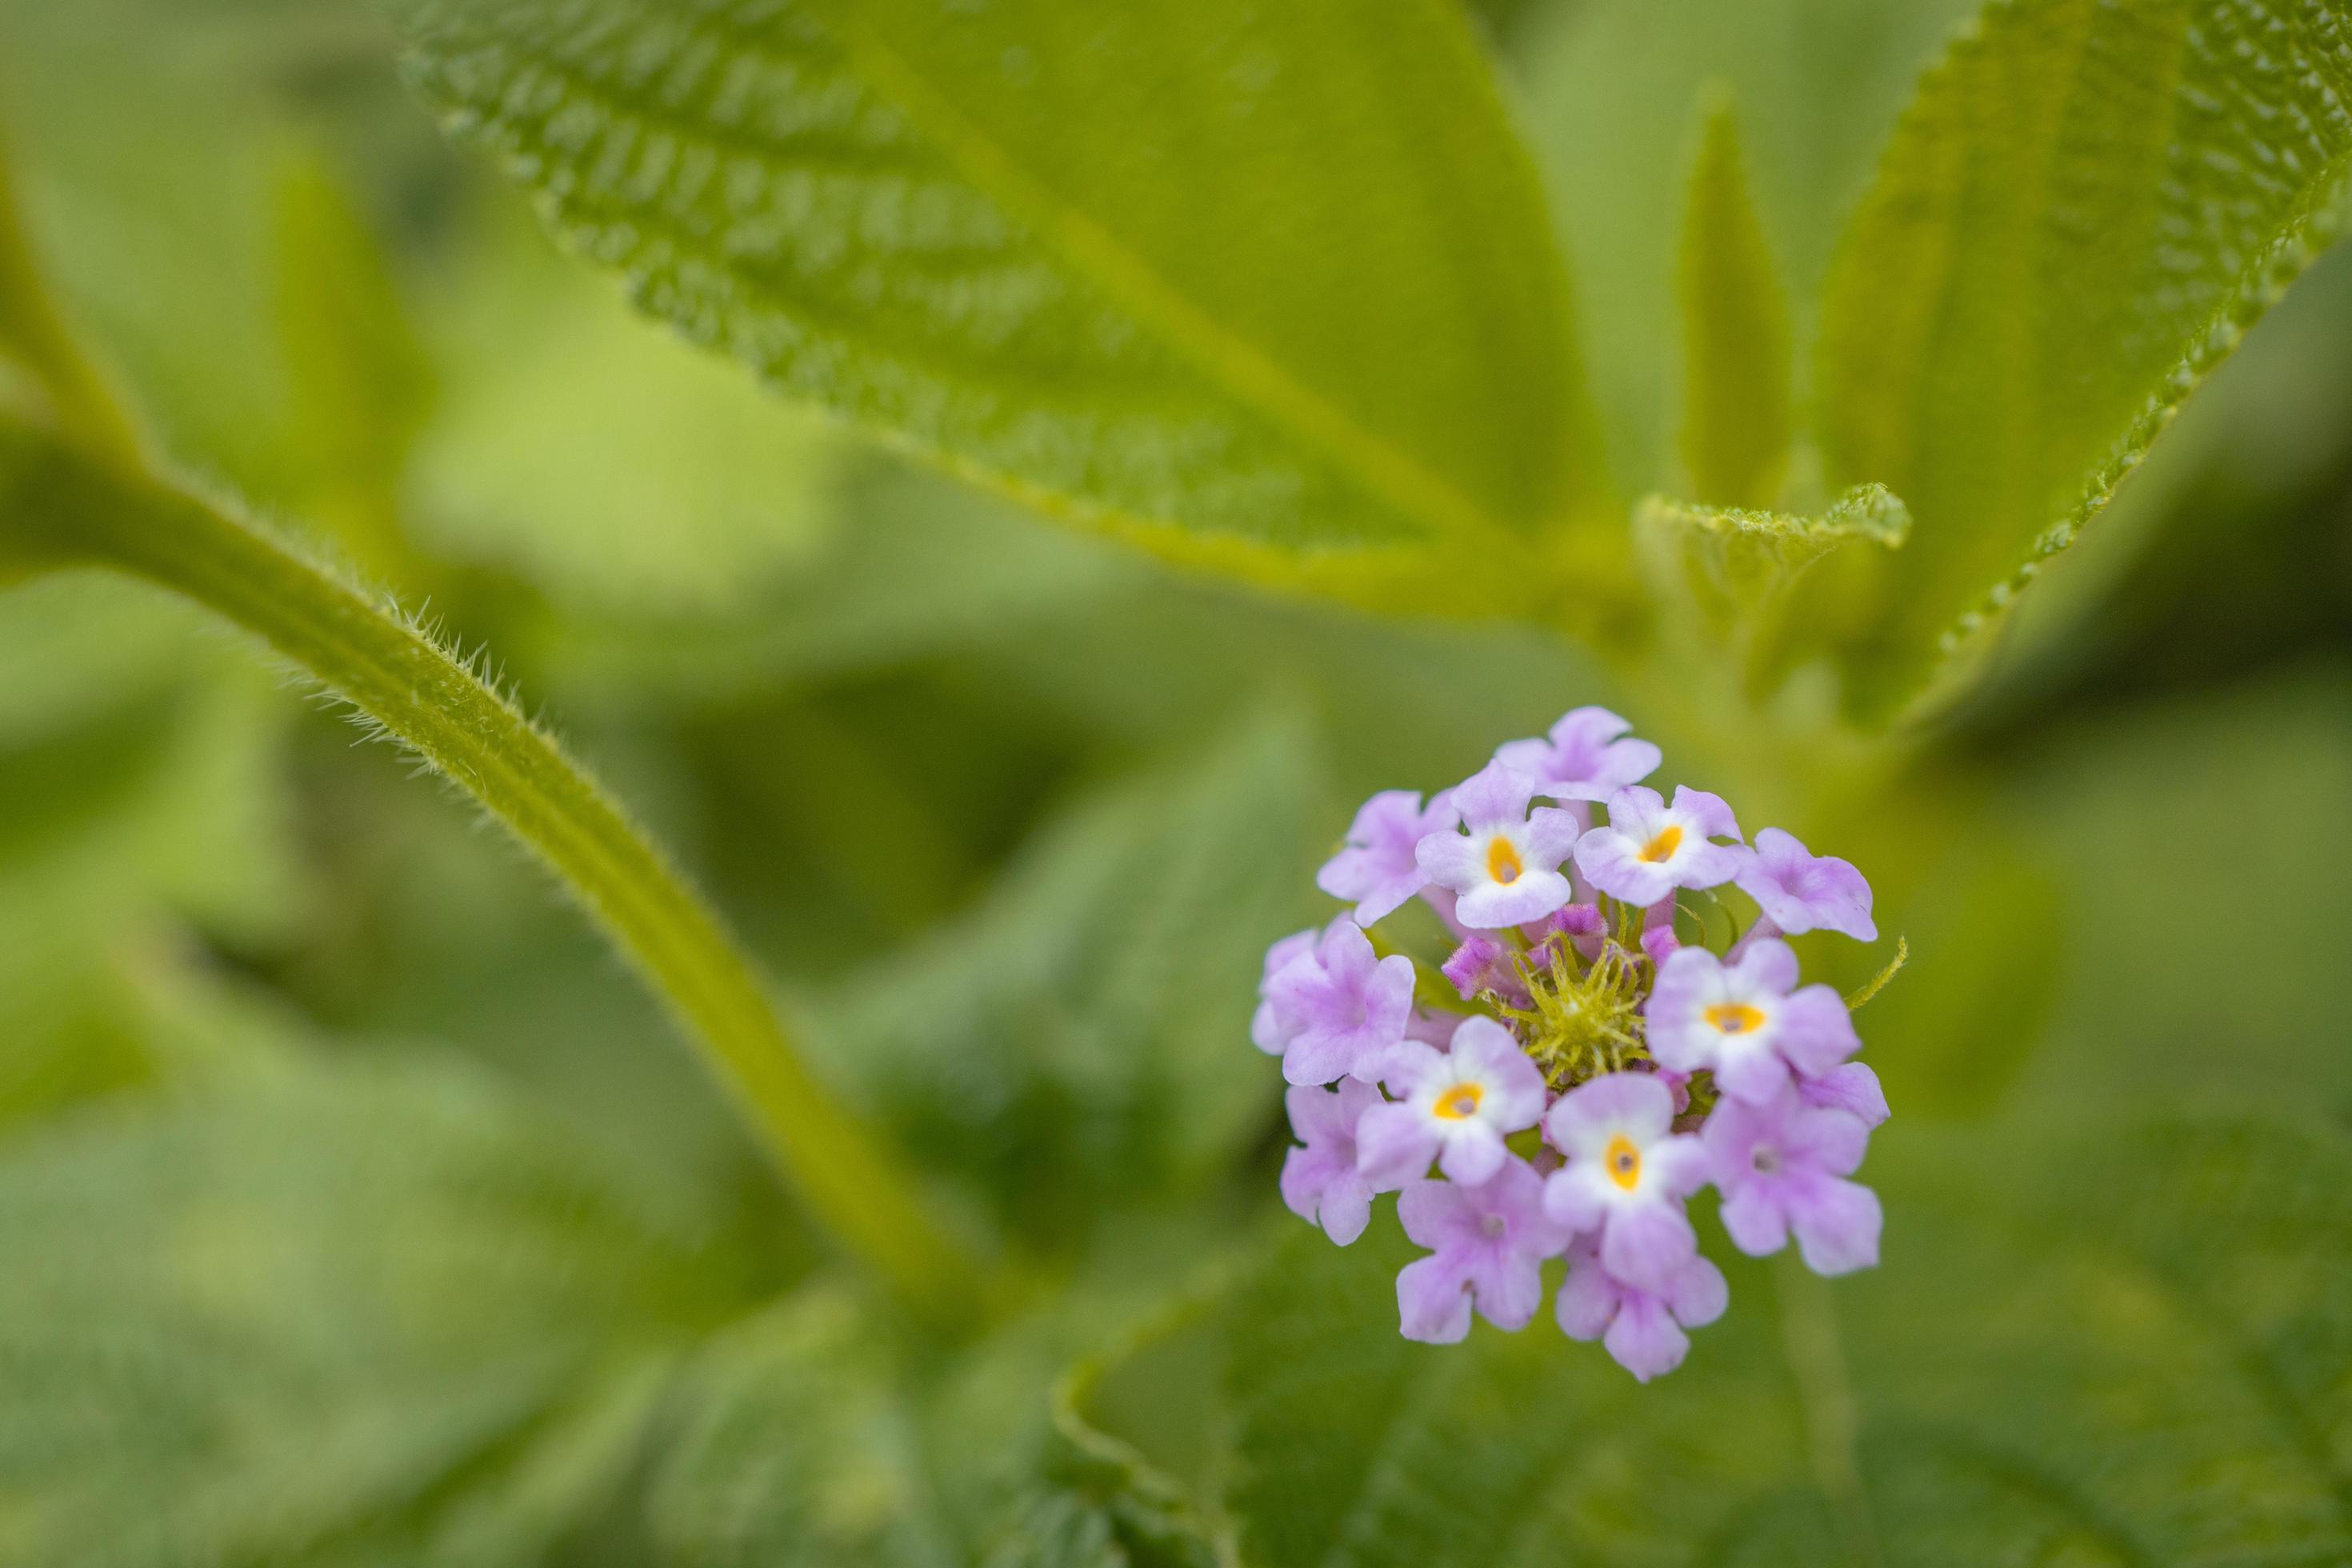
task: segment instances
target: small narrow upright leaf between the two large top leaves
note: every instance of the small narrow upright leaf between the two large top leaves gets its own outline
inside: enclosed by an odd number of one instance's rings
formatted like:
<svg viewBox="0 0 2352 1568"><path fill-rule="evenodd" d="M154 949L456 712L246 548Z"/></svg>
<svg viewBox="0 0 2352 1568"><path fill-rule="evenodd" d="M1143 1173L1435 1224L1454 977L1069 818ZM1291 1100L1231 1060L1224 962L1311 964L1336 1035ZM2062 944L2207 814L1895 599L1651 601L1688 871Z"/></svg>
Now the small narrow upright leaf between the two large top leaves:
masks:
<svg viewBox="0 0 2352 1568"><path fill-rule="evenodd" d="M1795 435L1788 301L1748 195L1731 99L1698 139L1682 219L1682 463L1712 505L1771 505Z"/></svg>

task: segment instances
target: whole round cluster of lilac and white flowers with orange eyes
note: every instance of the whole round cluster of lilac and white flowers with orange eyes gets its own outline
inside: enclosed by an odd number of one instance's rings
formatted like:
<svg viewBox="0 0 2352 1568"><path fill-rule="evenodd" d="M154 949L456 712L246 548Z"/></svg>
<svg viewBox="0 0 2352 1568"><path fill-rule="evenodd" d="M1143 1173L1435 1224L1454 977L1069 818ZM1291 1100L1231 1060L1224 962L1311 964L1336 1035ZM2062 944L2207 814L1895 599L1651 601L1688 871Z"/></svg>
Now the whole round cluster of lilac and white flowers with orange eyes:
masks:
<svg viewBox="0 0 2352 1568"><path fill-rule="evenodd" d="M1251 1037L1303 1140L1282 1199L1345 1246L1397 1192L1430 1248L1397 1276L1406 1338L1461 1340L1472 1309L1524 1328L1564 1255L1559 1326L1646 1382L1726 1305L1684 1213L1700 1187L1743 1253L1877 1262L1879 1201L1849 1178L1886 1098L1780 940L1877 940L1870 884L1778 827L1750 844L1705 790L1642 788L1661 755L1628 729L1578 708L1428 802L1364 802L1317 877L1355 907L1272 945ZM1451 957L1416 961L1414 919Z"/></svg>

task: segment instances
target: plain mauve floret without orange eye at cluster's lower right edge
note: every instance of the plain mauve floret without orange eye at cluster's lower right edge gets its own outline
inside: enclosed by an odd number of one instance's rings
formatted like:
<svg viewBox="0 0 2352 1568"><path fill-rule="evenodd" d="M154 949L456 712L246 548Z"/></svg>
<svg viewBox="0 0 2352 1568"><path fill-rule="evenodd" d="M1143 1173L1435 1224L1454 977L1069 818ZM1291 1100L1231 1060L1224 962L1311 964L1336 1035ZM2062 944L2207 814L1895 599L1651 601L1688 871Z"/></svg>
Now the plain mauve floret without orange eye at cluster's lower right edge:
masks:
<svg viewBox="0 0 2352 1568"><path fill-rule="evenodd" d="M1816 1274L1851 1274L1879 1260L1879 1194L1844 1180L1870 1145L1858 1117L1788 1091L1771 1105L1724 1100L1698 1138L1724 1190L1724 1229L1743 1253L1778 1253L1797 1232L1804 1267Z"/></svg>

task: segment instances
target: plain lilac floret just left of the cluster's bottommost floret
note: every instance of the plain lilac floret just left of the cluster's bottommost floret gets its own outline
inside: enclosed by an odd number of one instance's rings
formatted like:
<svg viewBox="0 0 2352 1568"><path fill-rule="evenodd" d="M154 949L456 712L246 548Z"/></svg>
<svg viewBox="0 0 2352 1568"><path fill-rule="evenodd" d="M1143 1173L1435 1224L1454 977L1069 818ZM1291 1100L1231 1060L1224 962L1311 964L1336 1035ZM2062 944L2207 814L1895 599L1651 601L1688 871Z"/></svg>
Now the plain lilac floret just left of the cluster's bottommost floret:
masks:
<svg viewBox="0 0 2352 1568"><path fill-rule="evenodd" d="M1543 1305L1543 1260L1569 1244L1543 1215L1543 1180L1508 1159L1479 1185L1411 1182L1397 1199L1404 1234L1435 1248L1397 1274L1406 1340L1454 1345L1470 1307L1496 1328L1526 1328Z"/></svg>

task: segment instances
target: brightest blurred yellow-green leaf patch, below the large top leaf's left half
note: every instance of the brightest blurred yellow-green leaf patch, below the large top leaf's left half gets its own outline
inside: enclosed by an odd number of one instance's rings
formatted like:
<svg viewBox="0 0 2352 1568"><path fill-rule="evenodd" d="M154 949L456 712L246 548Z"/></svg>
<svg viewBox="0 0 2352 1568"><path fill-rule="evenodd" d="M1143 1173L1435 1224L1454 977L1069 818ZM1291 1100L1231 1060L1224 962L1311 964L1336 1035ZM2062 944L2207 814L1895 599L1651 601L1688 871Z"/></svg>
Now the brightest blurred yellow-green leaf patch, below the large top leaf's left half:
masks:
<svg viewBox="0 0 2352 1568"><path fill-rule="evenodd" d="M487 219L430 301L447 397L414 494L435 555L517 571L572 614L684 625L807 567L837 515L826 421L633 315L529 223Z"/></svg>

